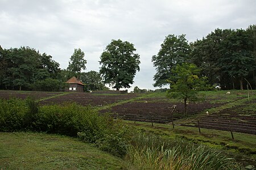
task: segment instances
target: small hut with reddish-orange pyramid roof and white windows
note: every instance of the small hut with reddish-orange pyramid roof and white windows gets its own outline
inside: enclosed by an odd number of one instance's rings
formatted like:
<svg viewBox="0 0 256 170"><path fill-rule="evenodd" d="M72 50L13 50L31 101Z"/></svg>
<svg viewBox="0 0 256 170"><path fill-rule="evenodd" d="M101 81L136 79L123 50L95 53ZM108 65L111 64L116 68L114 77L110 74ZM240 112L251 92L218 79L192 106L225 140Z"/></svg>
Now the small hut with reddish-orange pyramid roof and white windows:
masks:
<svg viewBox="0 0 256 170"><path fill-rule="evenodd" d="M69 86L68 88L65 88L65 91L67 92L84 92L84 84L75 76L72 76L69 80L66 82Z"/></svg>

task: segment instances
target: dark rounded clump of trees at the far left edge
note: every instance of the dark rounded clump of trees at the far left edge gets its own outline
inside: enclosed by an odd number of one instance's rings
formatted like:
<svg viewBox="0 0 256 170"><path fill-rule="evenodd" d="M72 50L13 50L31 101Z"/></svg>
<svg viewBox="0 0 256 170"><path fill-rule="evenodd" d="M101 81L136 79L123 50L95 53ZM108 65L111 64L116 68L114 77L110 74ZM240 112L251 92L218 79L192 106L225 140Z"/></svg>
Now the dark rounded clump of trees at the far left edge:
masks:
<svg viewBox="0 0 256 170"><path fill-rule="evenodd" d="M29 47L0 49L0 88L31 90L32 84L46 78L59 78L59 63L46 53Z"/></svg>

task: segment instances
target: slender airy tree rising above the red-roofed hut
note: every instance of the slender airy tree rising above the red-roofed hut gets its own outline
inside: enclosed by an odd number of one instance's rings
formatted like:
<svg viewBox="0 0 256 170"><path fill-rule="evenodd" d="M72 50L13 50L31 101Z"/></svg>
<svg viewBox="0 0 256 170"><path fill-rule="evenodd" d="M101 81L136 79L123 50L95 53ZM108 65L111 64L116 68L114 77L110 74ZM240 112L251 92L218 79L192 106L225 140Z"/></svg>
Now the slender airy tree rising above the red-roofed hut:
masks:
<svg viewBox="0 0 256 170"><path fill-rule="evenodd" d="M69 71L69 78L70 76L79 76L81 73L81 70L86 69L86 59L84 59L84 52L80 48L75 49L73 55L70 57L70 61L68 62L68 68Z"/></svg>

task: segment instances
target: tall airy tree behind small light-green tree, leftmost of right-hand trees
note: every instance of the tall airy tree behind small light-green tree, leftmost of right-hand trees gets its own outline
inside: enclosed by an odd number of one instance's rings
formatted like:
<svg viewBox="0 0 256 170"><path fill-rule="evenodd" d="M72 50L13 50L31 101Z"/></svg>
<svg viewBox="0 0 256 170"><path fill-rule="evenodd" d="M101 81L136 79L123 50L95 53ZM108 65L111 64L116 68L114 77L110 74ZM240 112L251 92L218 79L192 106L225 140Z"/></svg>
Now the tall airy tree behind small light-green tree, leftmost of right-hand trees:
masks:
<svg viewBox="0 0 256 170"><path fill-rule="evenodd" d="M157 55L152 56L152 62L156 67L154 75L154 87L162 87L168 84L167 79L172 75L171 70L177 64L183 63L189 56L190 46L185 35L168 35L161 44Z"/></svg>

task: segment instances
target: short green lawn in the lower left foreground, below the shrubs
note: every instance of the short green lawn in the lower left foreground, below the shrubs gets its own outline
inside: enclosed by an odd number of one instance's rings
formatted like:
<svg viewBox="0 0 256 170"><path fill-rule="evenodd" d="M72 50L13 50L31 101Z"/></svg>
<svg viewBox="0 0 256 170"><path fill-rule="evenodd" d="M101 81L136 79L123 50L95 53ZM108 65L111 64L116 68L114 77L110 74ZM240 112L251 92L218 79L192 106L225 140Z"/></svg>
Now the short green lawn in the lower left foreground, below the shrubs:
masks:
<svg viewBox="0 0 256 170"><path fill-rule="evenodd" d="M76 138L0 133L0 169L123 169L122 160Z"/></svg>

